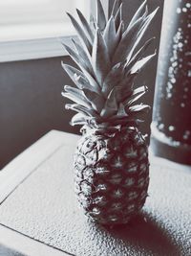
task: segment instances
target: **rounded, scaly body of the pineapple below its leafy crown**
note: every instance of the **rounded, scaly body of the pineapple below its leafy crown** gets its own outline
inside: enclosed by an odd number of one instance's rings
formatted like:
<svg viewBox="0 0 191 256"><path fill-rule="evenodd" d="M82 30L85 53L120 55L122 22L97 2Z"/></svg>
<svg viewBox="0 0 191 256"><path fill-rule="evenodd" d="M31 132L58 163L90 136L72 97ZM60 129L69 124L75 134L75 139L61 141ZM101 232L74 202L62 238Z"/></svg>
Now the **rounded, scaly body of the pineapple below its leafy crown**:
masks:
<svg viewBox="0 0 191 256"><path fill-rule="evenodd" d="M87 131L74 154L75 193L94 221L123 224L135 217L147 198L148 147L138 128L113 135Z"/></svg>

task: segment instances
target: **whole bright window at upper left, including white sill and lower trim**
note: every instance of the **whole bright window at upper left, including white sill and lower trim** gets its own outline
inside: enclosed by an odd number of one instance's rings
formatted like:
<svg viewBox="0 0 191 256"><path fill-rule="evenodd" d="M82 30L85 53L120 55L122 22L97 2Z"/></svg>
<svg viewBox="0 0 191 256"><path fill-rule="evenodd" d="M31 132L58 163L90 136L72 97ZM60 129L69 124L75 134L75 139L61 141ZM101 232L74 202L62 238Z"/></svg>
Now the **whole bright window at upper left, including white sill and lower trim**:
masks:
<svg viewBox="0 0 191 256"><path fill-rule="evenodd" d="M107 2L108 0L103 0ZM74 28L66 12L78 8L88 18L95 0L0 1L0 62L67 55Z"/></svg>

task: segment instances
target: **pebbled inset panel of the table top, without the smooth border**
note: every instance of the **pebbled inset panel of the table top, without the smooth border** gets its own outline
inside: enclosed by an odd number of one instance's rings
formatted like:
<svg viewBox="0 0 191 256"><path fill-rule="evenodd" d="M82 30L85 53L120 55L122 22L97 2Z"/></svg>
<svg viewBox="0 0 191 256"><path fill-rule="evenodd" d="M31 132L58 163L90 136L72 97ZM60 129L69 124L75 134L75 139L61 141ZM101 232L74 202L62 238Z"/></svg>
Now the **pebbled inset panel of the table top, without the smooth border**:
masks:
<svg viewBox="0 0 191 256"><path fill-rule="evenodd" d="M124 226L98 226L77 208L71 136L60 135L61 146L3 201L1 224L69 255L191 255L191 170L154 158L141 214Z"/></svg>

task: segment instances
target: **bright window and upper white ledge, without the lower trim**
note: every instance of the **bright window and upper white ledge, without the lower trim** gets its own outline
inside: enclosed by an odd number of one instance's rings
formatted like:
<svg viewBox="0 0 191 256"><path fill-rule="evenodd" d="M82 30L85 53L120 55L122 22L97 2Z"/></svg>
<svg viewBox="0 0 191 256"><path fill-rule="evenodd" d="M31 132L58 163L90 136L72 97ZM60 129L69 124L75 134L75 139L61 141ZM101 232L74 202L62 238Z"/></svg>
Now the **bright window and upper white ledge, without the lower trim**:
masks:
<svg viewBox="0 0 191 256"><path fill-rule="evenodd" d="M74 35L66 12L74 14L75 8L88 16L90 1L0 1L0 41Z"/></svg>

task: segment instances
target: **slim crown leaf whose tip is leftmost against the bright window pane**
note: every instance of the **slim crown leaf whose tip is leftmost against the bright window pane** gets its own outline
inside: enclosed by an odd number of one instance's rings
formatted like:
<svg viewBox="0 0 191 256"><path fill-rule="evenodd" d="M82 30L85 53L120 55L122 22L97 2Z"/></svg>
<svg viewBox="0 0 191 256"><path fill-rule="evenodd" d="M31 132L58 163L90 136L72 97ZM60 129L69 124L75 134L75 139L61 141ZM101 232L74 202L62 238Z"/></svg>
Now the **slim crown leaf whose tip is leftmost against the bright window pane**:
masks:
<svg viewBox="0 0 191 256"><path fill-rule="evenodd" d="M79 23L74 19L74 16L68 12L67 12L67 14L70 17L70 19L74 25L74 29L75 29L77 35L79 36L81 43L84 45L84 48L87 49L87 51L91 54L92 53L92 44L91 44L90 40L88 39L87 35L85 35L85 33L84 33L83 29L81 28L81 26L79 25Z"/></svg>

